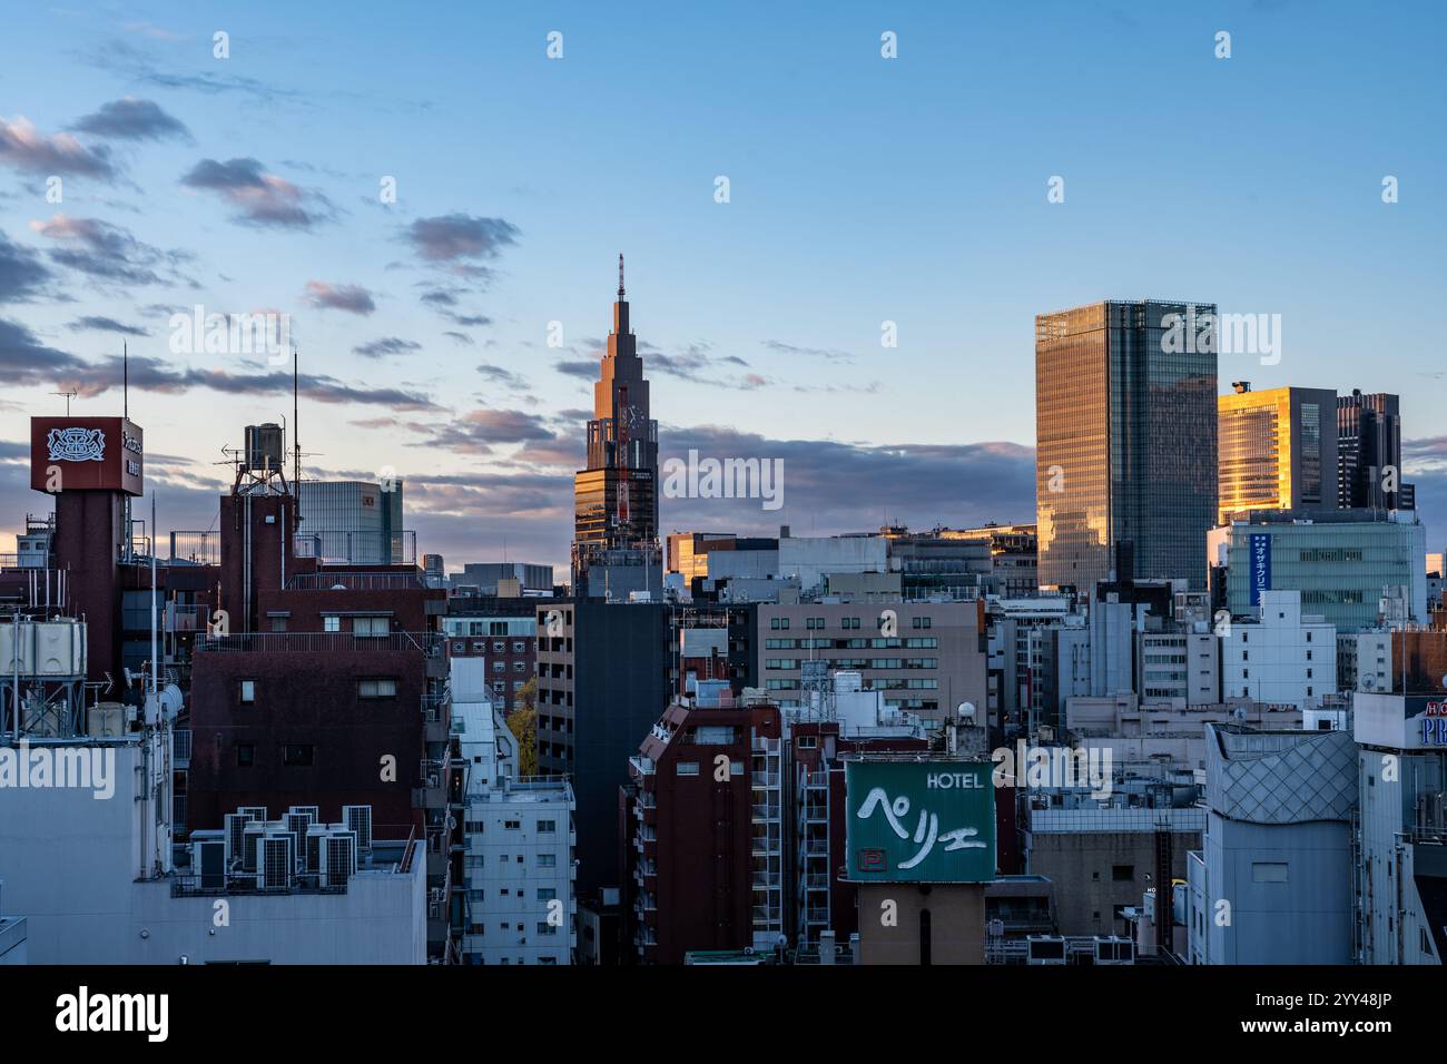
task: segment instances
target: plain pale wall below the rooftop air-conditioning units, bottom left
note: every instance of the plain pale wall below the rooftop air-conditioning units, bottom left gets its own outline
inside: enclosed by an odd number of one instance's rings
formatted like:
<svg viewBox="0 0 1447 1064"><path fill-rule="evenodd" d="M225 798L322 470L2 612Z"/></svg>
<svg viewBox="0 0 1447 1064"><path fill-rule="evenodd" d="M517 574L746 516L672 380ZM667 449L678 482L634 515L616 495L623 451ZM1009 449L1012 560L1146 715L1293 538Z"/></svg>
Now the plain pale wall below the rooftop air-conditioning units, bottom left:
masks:
<svg viewBox="0 0 1447 1064"><path fill-rule="evenodd" d="M69 788L0 788L4 905L27 918L32 964L177 964L181 957L191 964L427 963L421 851L410 871L363 870L339 895L236 895L224 909L213 896L172 898L175 880L155 874L158 854L169 870L169 832L158 841L150 803L136 801L142 748L109 748L110 798ZM168 772L153 760L152 773L158 770ZM146 879L137 879L142 866Z"/></svg>

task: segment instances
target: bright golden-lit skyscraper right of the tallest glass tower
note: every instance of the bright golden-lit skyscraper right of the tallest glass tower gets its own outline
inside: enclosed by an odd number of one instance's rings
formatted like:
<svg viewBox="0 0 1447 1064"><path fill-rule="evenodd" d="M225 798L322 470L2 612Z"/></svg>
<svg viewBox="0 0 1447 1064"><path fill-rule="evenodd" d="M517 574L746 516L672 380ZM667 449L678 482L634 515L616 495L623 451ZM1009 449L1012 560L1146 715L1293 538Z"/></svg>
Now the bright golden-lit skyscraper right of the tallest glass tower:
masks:
<svg viewBox="0 0 1447 1064"><path fill-rule="evenodd" d="M1252 510L1337 508L1337 394L1253 392L1246 381L1217 400L1217 523Z"/></svg>

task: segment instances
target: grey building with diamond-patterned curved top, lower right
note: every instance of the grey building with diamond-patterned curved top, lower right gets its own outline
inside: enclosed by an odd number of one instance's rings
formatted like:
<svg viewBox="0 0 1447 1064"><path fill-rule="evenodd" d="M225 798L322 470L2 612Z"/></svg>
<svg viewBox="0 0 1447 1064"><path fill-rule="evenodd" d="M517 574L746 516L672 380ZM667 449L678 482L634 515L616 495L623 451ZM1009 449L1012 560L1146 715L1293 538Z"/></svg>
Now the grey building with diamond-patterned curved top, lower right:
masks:
<svg viewBox="0 0 1447 1064"><path fill-rule="evenodd" d="M1207 730L1191 854L1194 964L1350 964L1357 746L1341 731Z"/></svg>

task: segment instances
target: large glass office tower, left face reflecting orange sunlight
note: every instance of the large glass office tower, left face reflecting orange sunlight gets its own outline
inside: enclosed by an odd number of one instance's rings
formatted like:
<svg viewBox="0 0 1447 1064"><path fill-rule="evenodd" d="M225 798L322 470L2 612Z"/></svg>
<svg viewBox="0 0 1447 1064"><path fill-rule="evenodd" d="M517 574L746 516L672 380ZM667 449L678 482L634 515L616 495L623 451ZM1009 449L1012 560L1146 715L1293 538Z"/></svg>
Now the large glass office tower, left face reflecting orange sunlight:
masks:
<svg viewBox="0 0 1447 1064"><path fill-rule="evenodd" d="M1039 579L1187 578L1215 523L1215 305L1106 301L1035 318Z"/></svg>

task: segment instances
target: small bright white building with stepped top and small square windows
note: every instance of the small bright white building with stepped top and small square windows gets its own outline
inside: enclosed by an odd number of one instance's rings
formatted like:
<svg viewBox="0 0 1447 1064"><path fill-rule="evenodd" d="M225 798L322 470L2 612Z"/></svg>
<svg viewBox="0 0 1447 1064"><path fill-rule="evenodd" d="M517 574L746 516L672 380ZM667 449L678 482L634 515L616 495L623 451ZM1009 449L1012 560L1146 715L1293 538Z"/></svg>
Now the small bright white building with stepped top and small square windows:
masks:
<svg viewBox="0 0 1447 1064"><path fill-rule="evenodd" d="M1226 698L1314 709L1337 691L1337 630L1301 612L1299 591L1263 591L1257 620L1221 636Z"/></svg>

